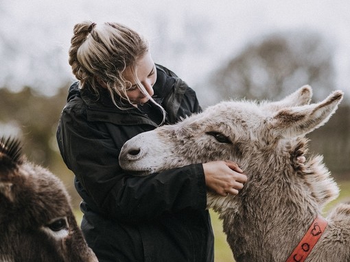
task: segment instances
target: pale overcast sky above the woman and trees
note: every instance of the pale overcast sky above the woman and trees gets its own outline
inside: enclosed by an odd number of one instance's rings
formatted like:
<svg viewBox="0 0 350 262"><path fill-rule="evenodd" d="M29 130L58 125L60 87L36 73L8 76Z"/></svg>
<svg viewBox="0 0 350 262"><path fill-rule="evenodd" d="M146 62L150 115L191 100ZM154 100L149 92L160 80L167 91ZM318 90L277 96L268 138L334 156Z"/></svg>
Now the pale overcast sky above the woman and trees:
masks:
<svg viewBox="0 0 350 262"><path fill-rule="evenodd" d="M334 48L335 89L350 90L349 0L0 0L0 86L53 94L72 77L69 41L75 23L85 20L137 29L150 40L154 60L191 86L259 36L313 29ZM189 34L189 27L198 30Z"/></svg>

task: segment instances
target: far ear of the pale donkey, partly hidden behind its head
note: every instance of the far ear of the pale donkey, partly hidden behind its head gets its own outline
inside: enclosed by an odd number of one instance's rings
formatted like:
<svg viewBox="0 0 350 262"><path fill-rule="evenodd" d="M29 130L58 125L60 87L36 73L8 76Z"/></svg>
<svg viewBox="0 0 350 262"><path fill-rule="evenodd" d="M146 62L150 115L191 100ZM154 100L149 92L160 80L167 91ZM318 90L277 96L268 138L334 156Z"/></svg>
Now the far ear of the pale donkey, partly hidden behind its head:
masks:
<svg viewBox="0 0 350 262"><path fill-rule="evenodd" d="M277 110L285 107L297 107L300 105L308 105L312 98L311 86L303 86L296 90L294 93L286 96L281 101L266 103L264 109L270 112L277 112Z"/></svg>

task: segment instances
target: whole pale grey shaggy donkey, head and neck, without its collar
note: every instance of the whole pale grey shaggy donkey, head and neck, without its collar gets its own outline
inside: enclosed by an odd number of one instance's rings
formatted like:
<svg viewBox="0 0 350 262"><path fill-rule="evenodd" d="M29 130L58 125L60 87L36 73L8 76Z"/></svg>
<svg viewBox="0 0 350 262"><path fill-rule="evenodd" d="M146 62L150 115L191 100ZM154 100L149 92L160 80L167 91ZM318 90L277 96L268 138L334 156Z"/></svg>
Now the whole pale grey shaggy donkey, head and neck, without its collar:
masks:
<svg viewBox="0 0 350 262"><path fill-rule="evenodd" d="M325 124L343 93L309 104L310 86L279 102L227 101L178 122L141 133L121 149L122 168L139 174L230 159L248 181L237 196L208 192L236 261L285 261L338 186L320 156L305 163L304 135ZM327 139L325 139L327 143ZM306 261L350 261L350 205L339 205Z"/></svg>

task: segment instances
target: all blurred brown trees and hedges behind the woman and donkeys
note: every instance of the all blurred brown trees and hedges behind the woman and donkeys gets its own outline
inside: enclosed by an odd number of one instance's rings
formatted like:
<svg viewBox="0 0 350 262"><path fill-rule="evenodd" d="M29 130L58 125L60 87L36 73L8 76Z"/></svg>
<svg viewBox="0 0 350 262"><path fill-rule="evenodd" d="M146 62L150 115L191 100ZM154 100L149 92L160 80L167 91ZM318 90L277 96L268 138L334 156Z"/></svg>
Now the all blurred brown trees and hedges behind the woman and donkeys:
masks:
<svg viewBox="0 0 350 262"><path fill-rule="evenodd" d="M313 31L270 34L255 39L226 64L213 66L205 84L193 88L199 97L203 90L215 93L205 107L227 99L278 100L305 84L312 86L314 101L319 101L336 89L333 59L331 45ZM69 85L62 83L53 96L38 94L28 86L20 92L1 87L0 129L1 135L21 137L28 159L60 176L78 207L73 174L63 163L56 143L56 127ZM309 135L310 153L324 155L337 179L346 179L350 172L349 113L349 104L343 101L327 125Z"/></svg>

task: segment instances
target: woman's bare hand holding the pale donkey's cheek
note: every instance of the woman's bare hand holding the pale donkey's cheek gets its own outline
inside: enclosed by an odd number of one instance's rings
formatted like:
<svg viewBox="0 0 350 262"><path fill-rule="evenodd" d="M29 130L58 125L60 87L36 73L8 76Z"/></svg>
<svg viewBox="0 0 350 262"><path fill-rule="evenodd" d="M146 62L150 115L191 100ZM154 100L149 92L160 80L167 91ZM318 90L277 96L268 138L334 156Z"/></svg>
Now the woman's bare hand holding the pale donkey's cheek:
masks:
<svg viewBox="0 0 350 262"><path fill-rule="evenodd" d="M247 177L233 161L203 163L205 183L209 189L221 196L237 195Z"/></svg>

